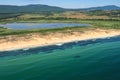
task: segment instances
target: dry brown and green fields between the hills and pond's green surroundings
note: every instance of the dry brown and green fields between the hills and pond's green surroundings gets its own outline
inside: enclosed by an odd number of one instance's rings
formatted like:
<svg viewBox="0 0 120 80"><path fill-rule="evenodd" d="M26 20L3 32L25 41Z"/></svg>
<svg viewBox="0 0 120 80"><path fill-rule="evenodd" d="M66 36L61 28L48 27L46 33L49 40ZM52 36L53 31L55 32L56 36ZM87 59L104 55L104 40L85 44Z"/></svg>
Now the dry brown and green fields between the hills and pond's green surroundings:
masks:
<svg viewBox="0 0 120 80"><path fill-rule="evenodd" d="M0 20L70 20L70 19L113 19L120 20L120 11L64 11L39 13L0 13Z"/></svg>

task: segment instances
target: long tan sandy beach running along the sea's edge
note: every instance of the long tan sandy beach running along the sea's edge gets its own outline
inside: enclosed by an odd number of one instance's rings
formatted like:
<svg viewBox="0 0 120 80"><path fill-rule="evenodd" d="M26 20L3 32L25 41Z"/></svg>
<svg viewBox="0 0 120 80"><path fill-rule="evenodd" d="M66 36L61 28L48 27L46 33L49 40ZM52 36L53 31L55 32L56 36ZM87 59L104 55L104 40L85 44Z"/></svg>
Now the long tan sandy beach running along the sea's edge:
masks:
<svg viewBox="0 0 120 80"><path fill-rule="evenodd" d="M15 49L25 49L37 46L46 46L52 44L60 44L72 41L80 41L87 39L105 38L120 35L120 30L93 29L83 32L71 31L70 33L49 33L43 35L40 33L32 33L26 35L11 35L0 37L0 51L8 51Z"/></svg>

